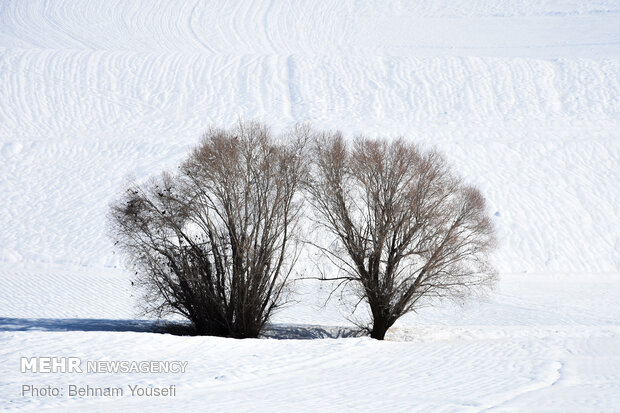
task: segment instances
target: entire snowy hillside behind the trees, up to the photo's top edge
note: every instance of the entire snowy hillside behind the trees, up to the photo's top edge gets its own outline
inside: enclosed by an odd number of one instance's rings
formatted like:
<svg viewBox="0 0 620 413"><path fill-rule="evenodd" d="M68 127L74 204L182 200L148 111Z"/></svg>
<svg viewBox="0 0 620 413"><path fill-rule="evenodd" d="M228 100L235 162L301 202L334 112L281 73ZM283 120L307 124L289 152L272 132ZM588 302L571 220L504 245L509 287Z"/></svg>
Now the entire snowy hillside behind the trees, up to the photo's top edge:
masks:
<svg viewBox="0 0 620 413"><path fill-rule="evenodd" d="M502 270L618 271L620 5L440 3L3 3L0 261L117 264L123 177L244 117L435 144Z"/></svg>

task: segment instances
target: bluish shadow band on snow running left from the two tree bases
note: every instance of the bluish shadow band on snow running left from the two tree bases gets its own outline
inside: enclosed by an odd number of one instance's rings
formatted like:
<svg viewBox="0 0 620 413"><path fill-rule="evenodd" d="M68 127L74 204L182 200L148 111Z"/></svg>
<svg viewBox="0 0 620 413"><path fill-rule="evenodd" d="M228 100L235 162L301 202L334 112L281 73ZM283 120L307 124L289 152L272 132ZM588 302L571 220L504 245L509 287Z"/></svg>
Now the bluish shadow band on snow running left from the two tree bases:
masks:
<svg viewBox="0 0 620 413"><path fill-rule="evenodd" d="M8 318L0 317L2 331L131 331L195 335L187 322L161 320L113 320L99 318ZM321 338L360 337L362 331L350 327L272 324L265 328L261 338L278 340L311 340Z"/></svg>

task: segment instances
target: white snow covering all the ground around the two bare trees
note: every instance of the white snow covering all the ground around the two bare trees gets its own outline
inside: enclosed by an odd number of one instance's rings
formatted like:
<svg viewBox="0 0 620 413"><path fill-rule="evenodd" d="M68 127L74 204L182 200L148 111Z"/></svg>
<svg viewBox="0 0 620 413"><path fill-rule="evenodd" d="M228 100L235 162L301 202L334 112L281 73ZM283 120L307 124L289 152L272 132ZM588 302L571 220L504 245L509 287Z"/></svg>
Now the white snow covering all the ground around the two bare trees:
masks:
<svg viewBox="0 0 620 413"><path fill-rule="evenodd" d="M620 410L619 2L2 2L0 97L0 409ZM488 199L497 289L385 343L140 332L107 204L238 117L436 145ZM278 328L348 325L300 290ZM19 373L43 355L189 364Z"/></svg>

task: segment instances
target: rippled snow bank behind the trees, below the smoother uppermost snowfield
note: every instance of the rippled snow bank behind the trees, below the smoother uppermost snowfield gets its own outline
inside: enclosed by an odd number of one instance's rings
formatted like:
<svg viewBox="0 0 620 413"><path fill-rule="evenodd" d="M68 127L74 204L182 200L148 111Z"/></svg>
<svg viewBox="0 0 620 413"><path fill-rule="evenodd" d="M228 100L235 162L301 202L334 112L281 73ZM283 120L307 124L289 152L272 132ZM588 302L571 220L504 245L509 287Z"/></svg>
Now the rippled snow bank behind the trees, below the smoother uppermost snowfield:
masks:
<svg viewBox="0 0 620 413"><path fill-rule="evenodd" d="M505 271L620 265L618 60L8 49L0 67L0 261L118 263L123 177L241 116L439 145L499 214Z"/></svg>

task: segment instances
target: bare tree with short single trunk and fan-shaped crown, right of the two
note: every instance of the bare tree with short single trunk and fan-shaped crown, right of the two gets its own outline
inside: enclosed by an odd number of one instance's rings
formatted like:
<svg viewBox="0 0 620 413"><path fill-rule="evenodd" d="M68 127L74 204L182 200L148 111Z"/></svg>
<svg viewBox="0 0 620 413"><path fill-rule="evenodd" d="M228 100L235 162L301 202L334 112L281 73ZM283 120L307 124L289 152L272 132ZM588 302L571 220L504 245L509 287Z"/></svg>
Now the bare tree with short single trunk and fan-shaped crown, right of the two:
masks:
<svg viewBox="0 0 620 413"><path fill-rule="evenodd" d="M463 297L493 281L495 236L484 198L438 152L403 140L349 144L340 133L323 133L313 158L309 199L333 236L315 246L341 269L322 278L357 287L371 337L382 340L428 299Z"/></svg>

